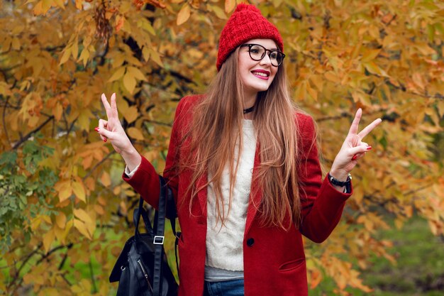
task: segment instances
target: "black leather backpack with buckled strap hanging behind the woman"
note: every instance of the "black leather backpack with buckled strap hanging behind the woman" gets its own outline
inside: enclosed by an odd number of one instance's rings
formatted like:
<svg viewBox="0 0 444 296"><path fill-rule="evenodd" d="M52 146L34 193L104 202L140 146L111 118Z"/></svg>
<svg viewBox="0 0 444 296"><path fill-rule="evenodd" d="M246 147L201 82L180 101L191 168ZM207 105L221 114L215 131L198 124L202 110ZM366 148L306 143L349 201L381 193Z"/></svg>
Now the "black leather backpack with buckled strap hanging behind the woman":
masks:
<svg viewBox="0 0 444 296"><path fill-rule="evenodd" d="M151 226L148 213L143 209L140 197L139 207L134 210L135 233L126 241L121 254L114 265L109 282L119 282L117 296L176 296L179 286L168 265L163 248L165 231L165 212L169 208L170 222L177 240L180 232L175 231L176 209L171 190L160 177L159 209L155 213L154 227ZM174 209L174 210L173 210ZM145 222L145 234L138 231L140 216ZM154 228L154 229L153 229ZM176 253L177 263L177 253ZM179 270L179 268L177 269Z"/></svg>

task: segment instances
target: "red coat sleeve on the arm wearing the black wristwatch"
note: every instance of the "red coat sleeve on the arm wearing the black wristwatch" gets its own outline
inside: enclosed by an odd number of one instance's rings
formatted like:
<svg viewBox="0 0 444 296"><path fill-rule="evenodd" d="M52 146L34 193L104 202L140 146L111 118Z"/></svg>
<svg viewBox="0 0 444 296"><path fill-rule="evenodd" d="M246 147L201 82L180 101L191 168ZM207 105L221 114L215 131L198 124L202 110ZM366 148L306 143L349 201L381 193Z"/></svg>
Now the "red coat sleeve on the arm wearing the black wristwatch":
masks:
<svg viewBox="0 0 444 296"><path fill-rule="evenodd" d="M342 215L345 201L353 193L335 190L322 179L313 119L298 116L301 158L299 163L299 196L301 198L301 234L315 243L325 241Z"/></svg>

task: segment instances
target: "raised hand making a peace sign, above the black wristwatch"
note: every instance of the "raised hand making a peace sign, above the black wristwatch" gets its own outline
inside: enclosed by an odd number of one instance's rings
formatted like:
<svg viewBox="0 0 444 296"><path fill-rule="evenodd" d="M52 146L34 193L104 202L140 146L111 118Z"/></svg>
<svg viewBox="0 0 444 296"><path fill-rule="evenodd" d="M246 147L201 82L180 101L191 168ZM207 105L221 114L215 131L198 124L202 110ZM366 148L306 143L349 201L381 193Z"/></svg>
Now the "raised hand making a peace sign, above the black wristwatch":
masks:
<svg viewBox="0 0 444 296"><path fill-rule="evenodd" d="M353 123L348 131L347 138L345 138L343 146L340 148L338 155L336 155L333 165L331 165L330 175L339 181L347 180L348 173L355 168L357 160L362 158L367 151L372 149L372 146L362 142L362 139L382 122L381 119L375 119L360 133L357 133L361 116L362 109L358 109L355 119L353 119Z"/></svg>

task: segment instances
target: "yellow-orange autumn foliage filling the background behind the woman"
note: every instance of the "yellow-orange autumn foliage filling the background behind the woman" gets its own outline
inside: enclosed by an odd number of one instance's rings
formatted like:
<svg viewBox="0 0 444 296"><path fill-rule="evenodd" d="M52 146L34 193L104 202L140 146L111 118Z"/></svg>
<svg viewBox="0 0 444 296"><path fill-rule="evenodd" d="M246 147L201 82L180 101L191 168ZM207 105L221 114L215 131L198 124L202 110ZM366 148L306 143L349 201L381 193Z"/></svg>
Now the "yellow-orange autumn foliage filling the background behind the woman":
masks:
<svg viewBox="0 0 444 296"><path fill-rule="evenodd" d="M306 241L309 287L360 280L414 213L444 233L442 1L252 1L281 31L294 100L317 121L328 170L353 114L384 121L353 170L355 194L326 243ZM179 99L216 73L235 0L0 2L0 292L112 295L138 196L94 132L102 92L160 172ZM394 220L394 225L387 221ZM172 248L171 243L167 248ZM170 258L174 259L174 258ZM352 262L357 265L352 265Z"/></svg>

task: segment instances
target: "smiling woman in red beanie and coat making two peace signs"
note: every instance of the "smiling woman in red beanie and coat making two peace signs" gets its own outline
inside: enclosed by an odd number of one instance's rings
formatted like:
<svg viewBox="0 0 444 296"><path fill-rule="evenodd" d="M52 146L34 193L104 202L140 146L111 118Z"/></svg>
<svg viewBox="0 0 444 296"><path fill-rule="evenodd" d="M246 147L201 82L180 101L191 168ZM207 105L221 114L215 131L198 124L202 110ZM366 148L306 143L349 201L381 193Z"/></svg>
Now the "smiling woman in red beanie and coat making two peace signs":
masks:
<svg viewBox="0 0 444 296"><path fill-rule="evenodd" d="M164 177L174 193L179 295L307 295L301 234L320 243L352 194L350 170L371 149L358 110L324 180L310 116L287 89L282 37L239 4L221 33L213 84L177 106ZM156 207L157 172L131 145L116 94L96 131L126 162L123 179Z"/></svg>

